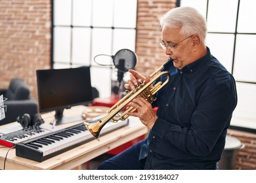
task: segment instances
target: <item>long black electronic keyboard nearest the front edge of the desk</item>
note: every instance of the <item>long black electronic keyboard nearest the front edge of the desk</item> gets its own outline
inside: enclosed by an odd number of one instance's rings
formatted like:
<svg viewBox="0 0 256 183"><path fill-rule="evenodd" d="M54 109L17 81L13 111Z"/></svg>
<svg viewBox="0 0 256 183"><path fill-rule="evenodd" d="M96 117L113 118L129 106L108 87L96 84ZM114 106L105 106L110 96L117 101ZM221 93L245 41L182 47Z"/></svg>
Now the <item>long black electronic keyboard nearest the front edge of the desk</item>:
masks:
<svg viewBox="0 0 256 183"><path fill-rule="evenodd" d="M117 123L108 122L102 128L101 135L110 133L128 124L128 120ZM95 137L91 135L84 124L78 124L17 143L16 156L42 162L94 139Z"/></svg>

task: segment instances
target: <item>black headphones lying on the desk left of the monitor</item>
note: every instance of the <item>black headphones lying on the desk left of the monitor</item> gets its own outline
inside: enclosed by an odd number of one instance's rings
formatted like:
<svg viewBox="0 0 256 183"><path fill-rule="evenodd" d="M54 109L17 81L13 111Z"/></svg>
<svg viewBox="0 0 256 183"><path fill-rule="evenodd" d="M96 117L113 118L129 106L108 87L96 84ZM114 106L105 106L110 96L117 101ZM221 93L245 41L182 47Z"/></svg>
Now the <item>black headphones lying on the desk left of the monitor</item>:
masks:
<svg viewBox="0 0 256 183"><path fill-rule="evenodd" d="M17 122L22 125L23 129L28 127L38 128L39 125L43 124L45 121L41 118L41 114L37 113L34 115L30 115L28 113L23 114L22 116L18 116Z"/></svg>

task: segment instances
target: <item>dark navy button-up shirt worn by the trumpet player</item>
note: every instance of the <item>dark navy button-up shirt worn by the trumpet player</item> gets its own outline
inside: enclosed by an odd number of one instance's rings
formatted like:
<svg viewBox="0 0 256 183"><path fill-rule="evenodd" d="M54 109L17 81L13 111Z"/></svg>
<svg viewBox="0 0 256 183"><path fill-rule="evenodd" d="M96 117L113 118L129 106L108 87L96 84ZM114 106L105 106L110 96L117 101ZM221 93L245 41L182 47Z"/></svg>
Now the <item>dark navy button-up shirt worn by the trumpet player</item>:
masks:
<svg viewBox="0 0 256 183"><path fill-rule="evenodd" d="M158 120L140 150L145 169L215 169L237 104L234 78L207 55L179 70L156 95ZM165 80L166 75L161 80Z"/></svg>

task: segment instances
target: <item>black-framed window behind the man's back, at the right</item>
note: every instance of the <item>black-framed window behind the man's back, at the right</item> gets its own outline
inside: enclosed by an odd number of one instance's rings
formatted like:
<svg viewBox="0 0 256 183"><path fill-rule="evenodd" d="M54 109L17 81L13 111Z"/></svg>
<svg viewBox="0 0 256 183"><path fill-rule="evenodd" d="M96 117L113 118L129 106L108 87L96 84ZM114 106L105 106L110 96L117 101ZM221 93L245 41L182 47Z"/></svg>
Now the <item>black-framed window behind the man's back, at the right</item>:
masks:
<svg viewBox="0 0 256 183"><path fill-rule="evenodd" d="M238 105L231 125L256 129L256 1L181 0L181 6L205 16L207 46L236 79Z"/></svg>

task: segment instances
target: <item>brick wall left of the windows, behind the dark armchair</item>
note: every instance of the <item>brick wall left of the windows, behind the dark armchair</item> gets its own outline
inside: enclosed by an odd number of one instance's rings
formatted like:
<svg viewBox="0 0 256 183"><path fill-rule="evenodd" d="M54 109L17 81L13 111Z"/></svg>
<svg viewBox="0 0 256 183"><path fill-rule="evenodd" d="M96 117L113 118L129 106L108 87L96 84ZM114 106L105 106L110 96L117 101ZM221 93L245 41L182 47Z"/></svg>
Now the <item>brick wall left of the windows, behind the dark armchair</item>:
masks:
<svg viewBox="0 0 256 183"><path fill-rule="evenodd" d="M35 70L50 56L51 0L0 0L0 88L22 78L37 99Z"/></svg>

